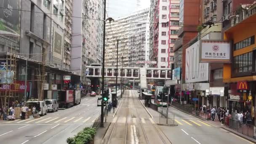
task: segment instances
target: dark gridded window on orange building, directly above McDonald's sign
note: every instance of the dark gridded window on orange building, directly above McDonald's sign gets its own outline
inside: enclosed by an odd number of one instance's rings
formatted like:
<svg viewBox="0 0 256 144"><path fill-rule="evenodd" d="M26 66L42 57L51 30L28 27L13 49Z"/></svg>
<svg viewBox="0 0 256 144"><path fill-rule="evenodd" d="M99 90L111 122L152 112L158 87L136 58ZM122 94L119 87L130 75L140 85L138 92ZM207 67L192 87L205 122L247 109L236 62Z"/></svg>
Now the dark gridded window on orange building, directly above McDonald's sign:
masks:
<svg viewBox="0 0 256 144"><path fill-rule="evenodd" d="M233 69L235 72L251 72L252 71L252 52L235 56Z"/></svg>

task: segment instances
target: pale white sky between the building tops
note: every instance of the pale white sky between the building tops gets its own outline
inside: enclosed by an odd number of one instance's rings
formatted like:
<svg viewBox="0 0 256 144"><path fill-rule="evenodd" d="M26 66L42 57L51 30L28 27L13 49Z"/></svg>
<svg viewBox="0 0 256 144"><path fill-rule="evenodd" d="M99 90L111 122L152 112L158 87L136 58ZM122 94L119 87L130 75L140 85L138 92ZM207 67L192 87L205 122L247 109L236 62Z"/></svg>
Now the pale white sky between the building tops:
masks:
<svg viewBox="0 0 256 144"><path fill-rule="evenodd" d="M123 17L135 11L149 8L149 5L150 0L107 0L107 14L112 18Z"/></svg>

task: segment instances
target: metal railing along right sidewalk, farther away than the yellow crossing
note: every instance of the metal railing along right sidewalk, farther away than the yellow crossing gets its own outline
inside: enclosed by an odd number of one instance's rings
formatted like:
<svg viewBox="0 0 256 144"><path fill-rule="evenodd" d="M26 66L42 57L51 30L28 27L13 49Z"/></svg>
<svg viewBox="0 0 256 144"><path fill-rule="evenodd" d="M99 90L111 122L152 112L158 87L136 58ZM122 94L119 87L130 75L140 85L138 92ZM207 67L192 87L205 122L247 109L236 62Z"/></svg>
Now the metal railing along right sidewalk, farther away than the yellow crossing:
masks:
<svg viewBox="0 0 256 144"><path fill-rule="evenodd" d="M189 114L195 115L197 117L205 118L205 120L211 120L211 113L202 111L201 109L196 109L195 107L189 107L184 104L179 104L177 102L173 102L171 104L173 107L176 107L177 109L180 109L184 112L188 112Z"/></svg>

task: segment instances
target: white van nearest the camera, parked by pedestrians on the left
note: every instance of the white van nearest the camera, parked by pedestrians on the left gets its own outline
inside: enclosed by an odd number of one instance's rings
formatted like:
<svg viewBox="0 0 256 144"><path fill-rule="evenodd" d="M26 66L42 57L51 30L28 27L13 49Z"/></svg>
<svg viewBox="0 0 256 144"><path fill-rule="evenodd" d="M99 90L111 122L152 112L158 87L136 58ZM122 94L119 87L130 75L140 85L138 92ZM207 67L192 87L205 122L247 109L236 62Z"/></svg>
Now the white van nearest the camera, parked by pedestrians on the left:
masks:
<svg viewBox="0 0 256 144"><path fill-rule="evenodd" d="M35 106L36 113L39 115L47 115L47 106L45 101L27 101L27 107L32 111Z"/></svg>

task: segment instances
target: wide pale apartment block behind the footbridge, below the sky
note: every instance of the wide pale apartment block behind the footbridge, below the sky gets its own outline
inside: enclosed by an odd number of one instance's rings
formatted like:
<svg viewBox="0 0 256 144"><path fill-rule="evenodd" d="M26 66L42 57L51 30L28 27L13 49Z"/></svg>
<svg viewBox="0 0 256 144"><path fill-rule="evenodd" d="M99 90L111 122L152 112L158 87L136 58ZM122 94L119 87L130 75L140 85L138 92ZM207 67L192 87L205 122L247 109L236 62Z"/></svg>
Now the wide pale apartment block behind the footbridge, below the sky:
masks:
<svg viewBox="0 0 256 144"><path fill-rule="evenodd" d="M121 66L123 56L124 67L145 67L137 61L147 60L149 45L149 8L131 13L117 22L106 24L105 66L116 66L117 40L118 57Z"/></svg>

